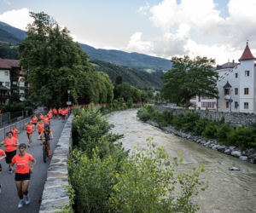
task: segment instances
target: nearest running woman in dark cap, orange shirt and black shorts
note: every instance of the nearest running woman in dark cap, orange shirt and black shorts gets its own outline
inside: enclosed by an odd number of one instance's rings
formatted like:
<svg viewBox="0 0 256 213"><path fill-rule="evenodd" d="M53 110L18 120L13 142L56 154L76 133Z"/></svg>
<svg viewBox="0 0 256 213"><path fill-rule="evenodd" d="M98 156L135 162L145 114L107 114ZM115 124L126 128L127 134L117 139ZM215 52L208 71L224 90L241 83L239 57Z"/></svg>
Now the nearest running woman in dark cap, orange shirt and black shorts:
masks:
<svg viewBox="0 0 256 213"><path fill-rule="evenodd" d="M19 146L19 154L16 154L12 159L12 163L10 165L11 170L15 172L14 165L17 165L16 173L15 173L15 181L16 187L18 191L18 196L20 198L20 204L18 208L23 207L24 199L23 194L25 195L25 204L30 203L29 193L28 193L28 185L30 181L30 175L33 173L33 166L36 164L36 160L32 157L32 155L26 153L26 144L21 143ZM29 167L29 161L32 161L32 165Z"/></svg>

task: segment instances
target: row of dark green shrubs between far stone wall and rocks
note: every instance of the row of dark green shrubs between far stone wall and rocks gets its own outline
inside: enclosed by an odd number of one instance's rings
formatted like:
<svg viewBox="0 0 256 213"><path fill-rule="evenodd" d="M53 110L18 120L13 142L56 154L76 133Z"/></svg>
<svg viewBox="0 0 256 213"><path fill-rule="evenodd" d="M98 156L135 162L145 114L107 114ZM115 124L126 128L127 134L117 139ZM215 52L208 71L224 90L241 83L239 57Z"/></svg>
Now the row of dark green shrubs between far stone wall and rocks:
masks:
<svg viewBox="0 0 256 213"><path fill-rule="evenodd" d="M152 120L166 126L172 124L176 130L189 132L191 135L203 135L205 140L216 138L221 145L236 146L240 148L256 147L256 124L251 127L233 127L230 124L224 124L224 118L221 120L211 120L200 118L195 112L186 112L173 117L171 112L160 113L151 106L144 106L138 112L137 116L143 121Z"/></svg>

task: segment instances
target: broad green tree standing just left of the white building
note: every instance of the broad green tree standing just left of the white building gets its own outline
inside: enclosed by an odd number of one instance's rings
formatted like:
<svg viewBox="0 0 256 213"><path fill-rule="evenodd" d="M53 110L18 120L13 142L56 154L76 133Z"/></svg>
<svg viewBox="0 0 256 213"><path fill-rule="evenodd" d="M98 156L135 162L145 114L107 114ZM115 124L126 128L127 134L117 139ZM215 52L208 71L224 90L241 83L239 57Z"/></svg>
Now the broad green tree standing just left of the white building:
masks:
<svg viewBox="0 0 256 213"><path fill-rule="evenodd" d="M166 72L161 96L177 104L190 106L190 99L195 95L218 98L215 86L218 72L212 71L215 60L207 57L195 57L191 60L185 55L183 58L172 57L172 69Z"/></svg>

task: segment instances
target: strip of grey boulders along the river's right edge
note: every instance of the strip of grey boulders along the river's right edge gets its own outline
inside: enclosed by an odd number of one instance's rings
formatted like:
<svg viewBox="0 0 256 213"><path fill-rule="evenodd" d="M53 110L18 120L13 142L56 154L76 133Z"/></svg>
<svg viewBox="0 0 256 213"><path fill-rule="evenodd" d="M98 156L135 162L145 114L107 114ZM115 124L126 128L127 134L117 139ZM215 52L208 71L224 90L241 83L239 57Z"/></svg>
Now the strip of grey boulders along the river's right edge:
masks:
<svg viewBox="0 0 256 213"><path fill-rule="evenodd" d="M189 133L184 133L181 130L175 130L175 128L172 125L168 126L160 126L154 121L148 120L146 122L147 124L150 124L154 127L160 128L160 130L164 130L166 134L173 134L180 136L184 139L187 139L189 141L194 141L201 146L212 148L215 151L218 151L220 153L225 153L228 155L232 155L236 158L239 158L241 160L247 161L251 164L256 164L256 150L255 149L248 149L245 148L241 150L239 147L226 147L224 145L221 145L217 140L215 139L209 139L207 141L204 140L202 135L191 135Z"/></svg>

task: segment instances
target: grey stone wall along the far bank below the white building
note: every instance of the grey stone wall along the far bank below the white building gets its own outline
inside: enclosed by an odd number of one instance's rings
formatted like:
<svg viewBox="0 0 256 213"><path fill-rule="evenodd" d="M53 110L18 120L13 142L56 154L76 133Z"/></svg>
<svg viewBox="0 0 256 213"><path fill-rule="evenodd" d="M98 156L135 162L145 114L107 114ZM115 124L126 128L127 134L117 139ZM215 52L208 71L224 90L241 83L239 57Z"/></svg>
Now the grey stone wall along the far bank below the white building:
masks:
<svg viewBox="0 0 256 213"><path fill-rule="evenodd" d="M169 108L169 107L162 107L162 106L152 106L154 110L158 110L159 112L172 112L173 116L179 114L185 114L187 110L183 110L181 108ZM233 126L241 125L241 126L250 126L252 123L255 123L256 116L255 114L249 113L241 113L241 112L213 112L213 111L206 111L206 110L189 110L189 112L196 112L199 114L201 118L208 118L208 119L216 119L220 120L224 117L225 124L232 124Z"/></svg>

